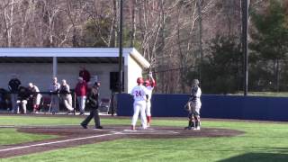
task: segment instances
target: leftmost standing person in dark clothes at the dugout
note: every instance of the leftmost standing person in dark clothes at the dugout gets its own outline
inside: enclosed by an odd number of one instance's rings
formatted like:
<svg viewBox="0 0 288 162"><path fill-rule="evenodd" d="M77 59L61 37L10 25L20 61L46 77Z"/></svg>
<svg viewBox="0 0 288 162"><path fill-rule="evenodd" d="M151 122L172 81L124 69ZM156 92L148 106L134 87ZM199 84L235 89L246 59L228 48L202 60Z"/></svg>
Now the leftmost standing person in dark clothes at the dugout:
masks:
<svg viewBox="0 0 288 162"><path fill-rule="evenodd" d="M11 104L12 104L12 112L16 113L18 106L17 106L17 99L18 99L18 93L19 93L19 86L21 85L20 80L17 78L16 74L12 75L11 80L8 83L8 88L11 93Z"/></svg>

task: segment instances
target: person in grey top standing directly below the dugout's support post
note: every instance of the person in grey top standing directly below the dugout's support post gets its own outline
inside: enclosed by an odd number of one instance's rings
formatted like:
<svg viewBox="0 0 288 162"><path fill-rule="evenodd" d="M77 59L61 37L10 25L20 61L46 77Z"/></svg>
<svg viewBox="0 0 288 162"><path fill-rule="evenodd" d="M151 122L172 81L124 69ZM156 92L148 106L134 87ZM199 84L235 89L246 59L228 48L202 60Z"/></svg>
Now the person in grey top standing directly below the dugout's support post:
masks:
<svg viewBox="0 0 288 162"><path fill-rule="evenodd" d="M59 90L60 84L58 83L57 77L53 77L53 83L49 87L49 91L51 93L51 112L52 114L59 112Z"/></svg>

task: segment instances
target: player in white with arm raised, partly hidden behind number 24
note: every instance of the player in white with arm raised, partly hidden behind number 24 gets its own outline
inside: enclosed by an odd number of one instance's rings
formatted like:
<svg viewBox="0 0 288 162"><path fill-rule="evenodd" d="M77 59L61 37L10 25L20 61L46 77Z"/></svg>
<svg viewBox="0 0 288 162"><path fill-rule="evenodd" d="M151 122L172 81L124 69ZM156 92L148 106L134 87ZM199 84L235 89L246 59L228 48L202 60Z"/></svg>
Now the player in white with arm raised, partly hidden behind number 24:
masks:
<svg viewBox="0 0 288 162"><path fill-rule="evenodd" d="M155 79L153 78L152 72L148 74L148 79L145 80L144 85L148 90L148 100L146 103L146 115L147 115L147 127L151 125L151 97L154 87L156 86Z"/></svg>

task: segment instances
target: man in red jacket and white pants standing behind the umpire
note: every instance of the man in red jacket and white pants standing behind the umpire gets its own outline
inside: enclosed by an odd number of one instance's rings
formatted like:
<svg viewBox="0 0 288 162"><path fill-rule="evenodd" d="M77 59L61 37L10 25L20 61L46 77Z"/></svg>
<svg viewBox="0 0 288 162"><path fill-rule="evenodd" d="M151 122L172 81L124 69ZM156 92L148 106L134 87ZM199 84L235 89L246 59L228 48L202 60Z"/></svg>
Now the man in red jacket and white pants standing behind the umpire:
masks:
<svg viewBox="0 0 288 162"><path fill-rule="evenodd" d="M83 115L85 112L85 100L86 100L86 94L87 94L88 86L83 80L83 77L78 77L78 83L75 87L75 93L77 102L79 105L79 111L80 115Z"/></svg>

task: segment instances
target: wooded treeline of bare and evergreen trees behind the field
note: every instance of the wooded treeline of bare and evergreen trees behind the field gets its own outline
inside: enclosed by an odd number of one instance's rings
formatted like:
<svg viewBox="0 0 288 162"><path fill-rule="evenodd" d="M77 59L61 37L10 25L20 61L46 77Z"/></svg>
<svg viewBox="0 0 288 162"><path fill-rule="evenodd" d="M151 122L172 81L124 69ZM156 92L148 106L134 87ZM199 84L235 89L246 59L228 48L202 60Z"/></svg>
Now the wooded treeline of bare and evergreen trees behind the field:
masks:
<svg viewBox="0 0 288 162"><path fill-rule="evenodd" d="M2 0L0 46L118 47L119 0ZM249 91L288 89L288 3L251 0ZM151 63L157 93L243 90L240 0L123 0L123 46Z"/></svg>

